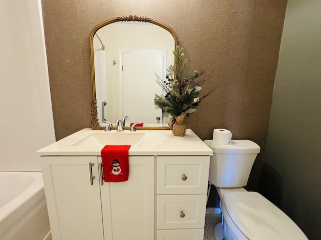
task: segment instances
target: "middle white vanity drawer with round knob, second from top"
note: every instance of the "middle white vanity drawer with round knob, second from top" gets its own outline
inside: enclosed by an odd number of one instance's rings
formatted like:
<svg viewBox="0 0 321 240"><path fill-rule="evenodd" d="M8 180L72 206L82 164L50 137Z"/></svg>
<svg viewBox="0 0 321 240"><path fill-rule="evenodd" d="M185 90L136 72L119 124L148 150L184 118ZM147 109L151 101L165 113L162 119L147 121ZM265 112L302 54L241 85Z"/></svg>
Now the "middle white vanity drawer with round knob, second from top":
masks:
<svg viewBox="0 0 321 240"><path fill-rule="evenodd" d="M206 194L157 195L157 229L204 228Z"/></svg>

